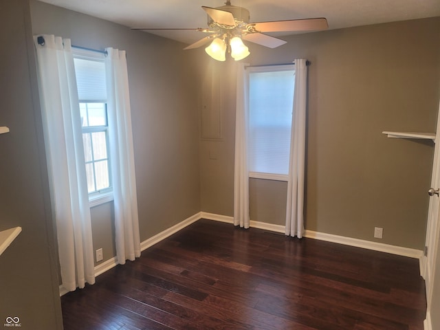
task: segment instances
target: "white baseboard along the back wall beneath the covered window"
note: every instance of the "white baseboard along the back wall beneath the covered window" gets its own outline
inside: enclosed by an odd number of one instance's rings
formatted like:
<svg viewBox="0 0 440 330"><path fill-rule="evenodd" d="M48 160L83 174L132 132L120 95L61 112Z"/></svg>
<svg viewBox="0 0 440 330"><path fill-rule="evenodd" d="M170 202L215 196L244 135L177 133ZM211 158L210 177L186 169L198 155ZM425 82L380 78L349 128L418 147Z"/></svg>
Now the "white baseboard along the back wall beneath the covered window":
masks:
<svg viewBox="0 0 440 330"><path fill-rule="evenodd" d="M220 214L212 214L208 212L201 212L201 218L227 222L227 223L234 223L233 217L228 217ZM264 223L264 222L251 220L250 226L253 228L270 230L273 232L282 232L283 234L285 233L284 225L274 225L272 223ZM309 239L319 239L320 241L350 245L356 248L364 248L368 250L397 254L399 256L408 256L410 258L419 259L420 261L422 260L423 257L423 251L421 250L402 248L401 246L377 243L373 241L365 241L363 239L353 239L351 237L326 234L325 232L314 232L313 230L306 230L304 236Z"/></svg>

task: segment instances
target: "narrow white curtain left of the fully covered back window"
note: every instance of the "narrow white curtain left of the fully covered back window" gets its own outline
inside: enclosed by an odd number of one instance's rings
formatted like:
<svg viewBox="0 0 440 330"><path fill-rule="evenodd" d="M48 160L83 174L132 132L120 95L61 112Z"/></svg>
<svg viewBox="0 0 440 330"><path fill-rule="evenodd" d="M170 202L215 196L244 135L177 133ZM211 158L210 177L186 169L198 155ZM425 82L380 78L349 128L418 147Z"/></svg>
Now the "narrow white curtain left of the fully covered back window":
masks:
<svg viewBox="0 0 440 330"><path fill-rule="evenodd" d="M236 79L234 225L249 228L248 75L238 63Z"/></svg>

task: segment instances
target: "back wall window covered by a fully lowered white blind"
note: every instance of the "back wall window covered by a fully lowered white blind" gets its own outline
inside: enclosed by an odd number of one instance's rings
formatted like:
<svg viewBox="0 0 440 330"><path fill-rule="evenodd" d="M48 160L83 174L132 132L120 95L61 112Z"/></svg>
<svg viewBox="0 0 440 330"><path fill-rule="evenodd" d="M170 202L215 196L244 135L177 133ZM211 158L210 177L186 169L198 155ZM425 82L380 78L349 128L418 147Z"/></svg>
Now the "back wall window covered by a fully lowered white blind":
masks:
<svg viewBox="0 0 440 330"><path fill-rule="evenodd" d="M250 177L286 181L294 103L293 65L248 67Z"/></svg>

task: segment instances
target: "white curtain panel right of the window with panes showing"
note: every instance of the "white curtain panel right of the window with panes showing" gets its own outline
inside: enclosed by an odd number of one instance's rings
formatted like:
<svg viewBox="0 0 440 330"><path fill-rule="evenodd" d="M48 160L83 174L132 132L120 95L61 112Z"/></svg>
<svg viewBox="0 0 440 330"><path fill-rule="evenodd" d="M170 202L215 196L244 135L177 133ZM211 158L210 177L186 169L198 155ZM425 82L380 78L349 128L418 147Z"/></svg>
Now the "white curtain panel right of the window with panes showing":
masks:
<svg viewBox="0 0 440 330"><path fill-rule="evenodd" d="M131 130L129 78L124 51L107 48L107 109L118 263L140 256L139 219Z"/></svg>

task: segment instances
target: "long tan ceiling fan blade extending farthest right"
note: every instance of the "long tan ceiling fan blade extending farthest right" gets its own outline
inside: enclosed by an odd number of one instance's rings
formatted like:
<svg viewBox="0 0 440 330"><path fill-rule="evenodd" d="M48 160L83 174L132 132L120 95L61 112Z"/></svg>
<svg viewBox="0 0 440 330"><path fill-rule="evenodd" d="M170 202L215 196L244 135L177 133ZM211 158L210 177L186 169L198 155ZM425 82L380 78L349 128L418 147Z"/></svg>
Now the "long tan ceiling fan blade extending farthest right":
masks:
<svg viewBox="0 0 440 330"><path fill-rule="evenodd" d="M288 32L288 31L316 31L329 28L327 19L293 19L290 21L273 21L249 23L248 31L255 32Z"/></svg>

